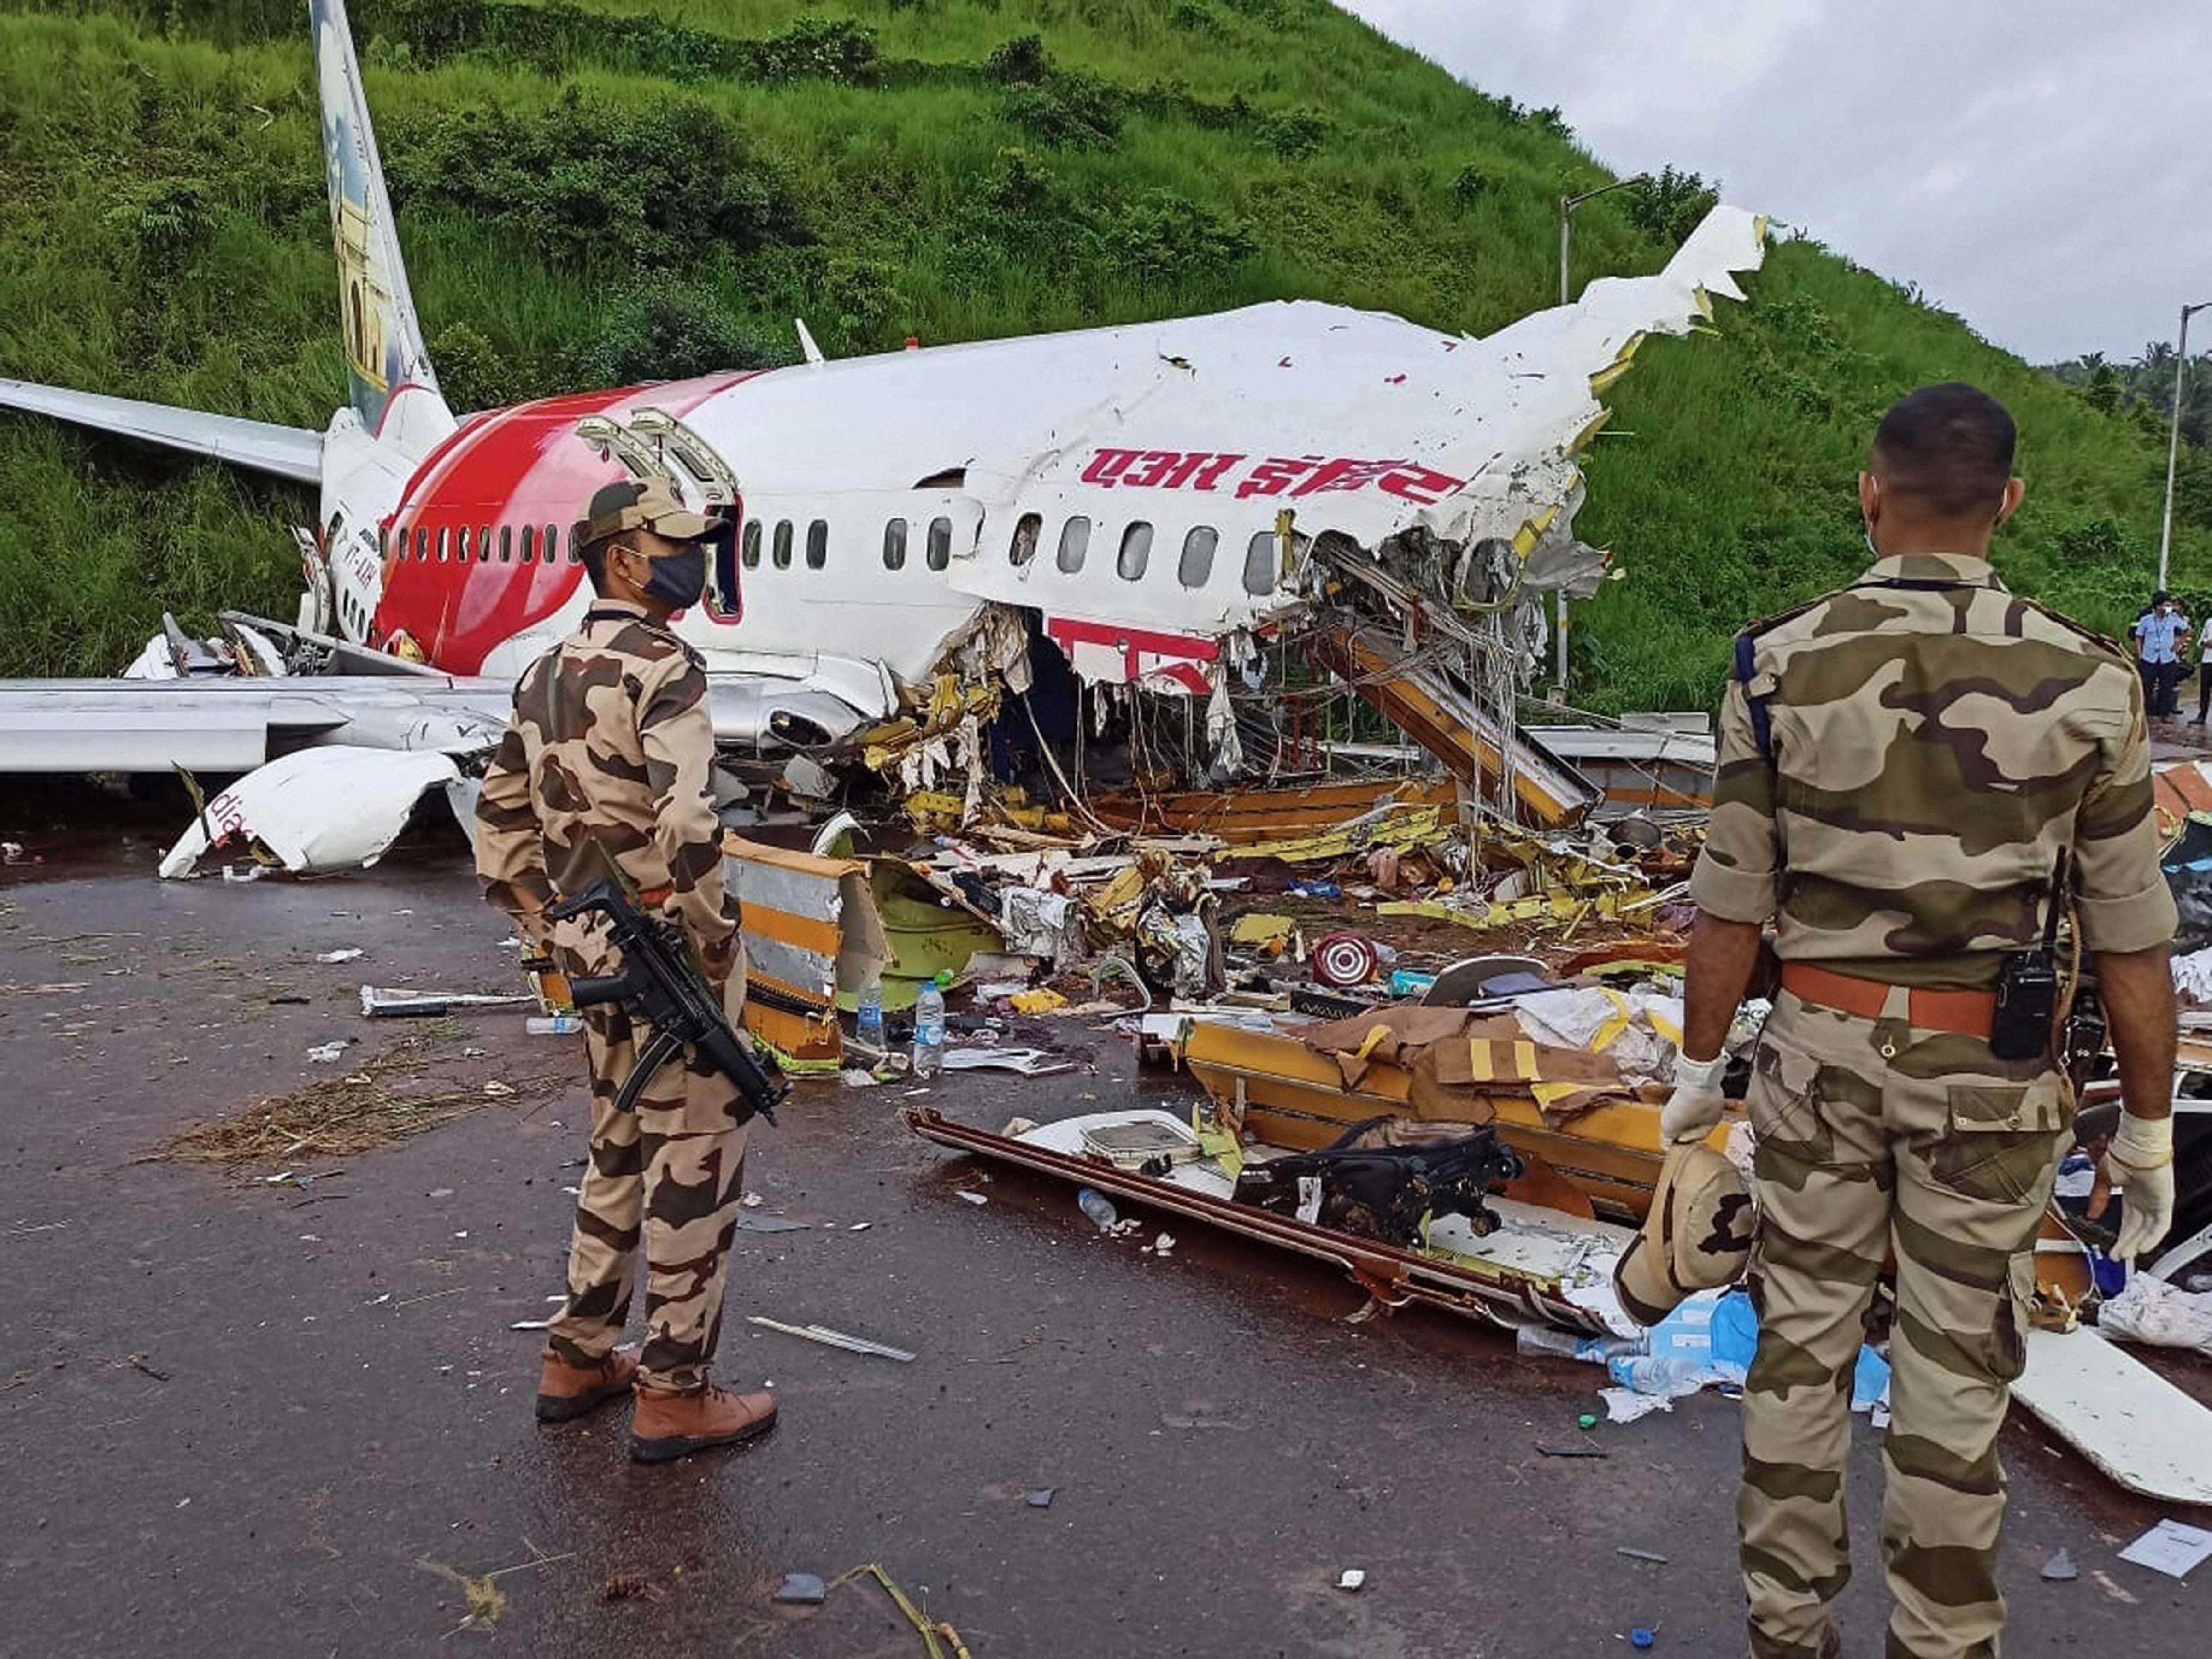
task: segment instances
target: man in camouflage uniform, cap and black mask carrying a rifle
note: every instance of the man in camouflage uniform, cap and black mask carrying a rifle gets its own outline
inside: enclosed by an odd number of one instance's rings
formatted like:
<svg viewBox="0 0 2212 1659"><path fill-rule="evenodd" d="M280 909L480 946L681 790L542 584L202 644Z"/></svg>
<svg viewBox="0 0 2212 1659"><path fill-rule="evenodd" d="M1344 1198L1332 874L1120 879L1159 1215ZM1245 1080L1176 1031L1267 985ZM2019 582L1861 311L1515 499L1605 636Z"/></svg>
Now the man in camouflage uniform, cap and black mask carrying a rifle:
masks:
<svg viewBox="0 0 2212 1659"><path fill-rule="evenodd" d="M515 717L476 810L478 874L493 905L575 975L619 969L597 916L546 927L542 909L608 865L646 909L675 920L737 1022L745 993L737 902L721 880L708 796L714 726L699 657L668 630L699 604L717 522L664 484L608 484L573 544L595 602L582 626L515 686ZM637 1389L630 1455L661 1462L765 1431L770 1394L708 1385L743 1197L737 1088L697 1064L664 1066L637 1102L615 1095L639 1037L622 1004L584 1011L591 1168L575 1206L568 1301L549 1329L540 1420L577 1418ZM646 1250L646 1347L617 1347Z"/></svg>

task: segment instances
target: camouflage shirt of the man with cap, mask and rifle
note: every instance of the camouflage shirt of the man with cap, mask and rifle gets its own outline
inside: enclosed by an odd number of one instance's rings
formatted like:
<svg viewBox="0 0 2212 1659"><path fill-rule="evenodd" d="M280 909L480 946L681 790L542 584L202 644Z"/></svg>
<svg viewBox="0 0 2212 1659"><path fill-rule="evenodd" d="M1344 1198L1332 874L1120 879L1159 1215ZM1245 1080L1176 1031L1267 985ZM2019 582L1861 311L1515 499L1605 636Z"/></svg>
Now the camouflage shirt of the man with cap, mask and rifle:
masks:
<svg viewBox="0 0 2212 1659"><path fill-rule="evenodd" d="M484 896L526 920L555 894L604 876L611 856L684 925L708 973L723 978L737 900L721 883L712 763L699 657L639 606L595 599L584 624L515 686L515 717L476 803ZM555 940L577 949L582 936Z"/></svg>

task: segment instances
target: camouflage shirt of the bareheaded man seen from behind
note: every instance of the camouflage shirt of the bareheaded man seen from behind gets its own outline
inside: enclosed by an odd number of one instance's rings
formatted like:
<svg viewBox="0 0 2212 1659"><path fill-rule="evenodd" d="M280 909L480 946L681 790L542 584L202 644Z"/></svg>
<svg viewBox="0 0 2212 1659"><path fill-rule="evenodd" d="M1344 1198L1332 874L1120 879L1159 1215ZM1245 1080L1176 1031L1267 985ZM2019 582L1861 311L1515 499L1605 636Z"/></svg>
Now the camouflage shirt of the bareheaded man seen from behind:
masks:
<svg viewBox="0 0 2212 1659"><path fill-rule="evenodd" d="M1730 679L1721 710L1699 909L1776 918L1785 962L1984 989L2039 942L2070 847L2086 949L2172 938L2119 646L2006 593L1986 560L1936 555L1880 560L1752 639L1750 686Z"/></svg>

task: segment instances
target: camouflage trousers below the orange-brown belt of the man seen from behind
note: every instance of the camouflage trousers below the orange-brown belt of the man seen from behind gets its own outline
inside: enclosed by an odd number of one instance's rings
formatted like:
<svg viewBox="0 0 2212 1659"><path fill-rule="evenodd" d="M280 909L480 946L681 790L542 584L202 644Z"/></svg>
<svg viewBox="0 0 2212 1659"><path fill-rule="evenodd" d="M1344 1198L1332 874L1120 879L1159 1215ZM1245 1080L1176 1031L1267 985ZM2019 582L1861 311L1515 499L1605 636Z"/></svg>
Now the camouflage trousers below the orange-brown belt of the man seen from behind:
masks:
<svg viewBox="0 0 2212 1659"><path fill-rule="evenodd" d="M1997 1429L2026 1358L2033 1241L2073 1099L2042 1060L1860 1020L1790 993L1754 1055L1759 1354L1736 1524L1752 1659L1840 1652L1851 1367L1896 1256L1882 1559L1887 1659L1995 1659L2004 1626Z"/></svg>

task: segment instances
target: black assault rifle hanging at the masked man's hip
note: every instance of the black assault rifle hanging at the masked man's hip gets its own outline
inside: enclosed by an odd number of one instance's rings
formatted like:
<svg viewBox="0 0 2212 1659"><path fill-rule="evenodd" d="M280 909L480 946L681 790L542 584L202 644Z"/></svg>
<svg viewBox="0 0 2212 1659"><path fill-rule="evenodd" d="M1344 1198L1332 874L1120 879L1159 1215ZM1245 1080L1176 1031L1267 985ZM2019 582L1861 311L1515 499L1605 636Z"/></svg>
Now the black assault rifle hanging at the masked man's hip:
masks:
<svg viewBox="0 0 2212 1659"><path fill-rule="evenodd" d="M792 1086L783 1073L763 1066L752 1046L730 1029L721 998L692 964L681 936L637 909L613 880L595 880L575 898L546 905L546 918L555 922L588 911L606 916L615 949L622 951L622 973L571 980L568 995L580 1009L626 1002L630 1013L653 1026L653 1040L639 1051L637 1064L622 1082L615 1110L635 1110L653 1073L675 1060L679 1048L692 1048L699 1060L737 1084L743 1102L743 1119L739 1121L759 1113L774 1124L776 1106L792 1093Z"/></svg>

